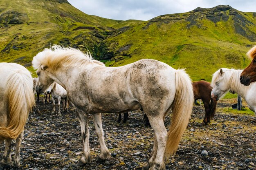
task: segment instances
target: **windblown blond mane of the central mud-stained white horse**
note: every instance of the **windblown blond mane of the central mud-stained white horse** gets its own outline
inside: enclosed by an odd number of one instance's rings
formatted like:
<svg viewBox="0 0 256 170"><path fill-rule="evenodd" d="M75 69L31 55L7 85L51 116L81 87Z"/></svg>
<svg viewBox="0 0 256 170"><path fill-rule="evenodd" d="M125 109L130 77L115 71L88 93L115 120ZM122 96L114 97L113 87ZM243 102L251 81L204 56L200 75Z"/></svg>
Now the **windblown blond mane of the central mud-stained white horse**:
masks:
<svg viewBox="0 0 256 170"><path fill-rule="evenodd" d="M78 49L71 47L65 48L60 45L54 45L49 49L44 49L42 52L33 57L32 61L34 69L44 65L52 71L55 71L61 66L83 68L89 64L105 66L102 62L93 60L90 52L83 53Z"/></svg>

